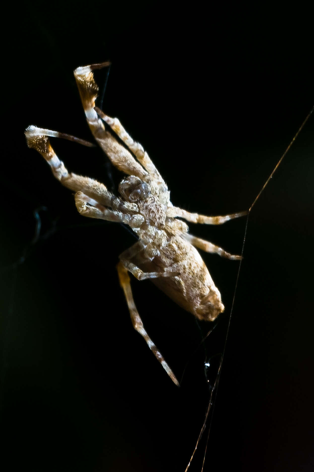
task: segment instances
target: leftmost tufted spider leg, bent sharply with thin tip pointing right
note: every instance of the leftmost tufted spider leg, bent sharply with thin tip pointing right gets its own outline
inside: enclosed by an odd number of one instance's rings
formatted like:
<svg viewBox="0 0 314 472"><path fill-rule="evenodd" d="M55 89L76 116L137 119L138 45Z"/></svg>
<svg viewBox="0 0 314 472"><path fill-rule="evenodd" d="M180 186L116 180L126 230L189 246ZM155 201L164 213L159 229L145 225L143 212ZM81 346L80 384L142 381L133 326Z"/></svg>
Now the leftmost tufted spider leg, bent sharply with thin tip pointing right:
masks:
<svg viewBox="0 0 314 472"><path fill-rule="evenodd" d="M114 194L111 194L107 187L96 180L89 177L83 177L74 173L68 172L64 163L59 160L59 157L51 147L48 136L64 137L62 133L57 131L51 131L49 129L37 128L36 126L28 126L25 130L25 136L27 145L30 148L34 148L39 152L42 157L48 162L51 167L54 177L59 182L75 192L82 191L89 197L97 200L98 203L110 206L113 210L121 210L123 212L136 213L138 207L134 203L124 202L117 198ZM66 139L68 139L69 135ZM74 136L70 136L74 138ZM72 139L71 139L72 140ZM74 138L77 142L81 142L77 138ZM87 143L87 142L85 142ZM90 143L88 143L90 144Z"/></svg>

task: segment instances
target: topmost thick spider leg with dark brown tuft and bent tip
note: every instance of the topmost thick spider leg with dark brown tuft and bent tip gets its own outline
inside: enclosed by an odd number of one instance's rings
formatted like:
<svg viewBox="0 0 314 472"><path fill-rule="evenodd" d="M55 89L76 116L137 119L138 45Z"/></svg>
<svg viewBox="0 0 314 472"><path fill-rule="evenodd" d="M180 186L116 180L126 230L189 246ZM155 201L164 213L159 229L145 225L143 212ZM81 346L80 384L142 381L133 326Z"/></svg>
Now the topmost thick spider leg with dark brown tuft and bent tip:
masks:
<svg viewBox="0 0 314 472"><path fill-rule="evenodd" d="M131 153L106 131L101 118L98 117L95 107L95 100L98 95L98 87L94 81L93 70L106 67L109 64L93 64L91 66L77 67L74 71L76 84L80 93L81 101L85 110L87 123L93 133L94 138L107 154L112 164L122 172L140 177L146 180L147 172L137 162Z"/></svg>

